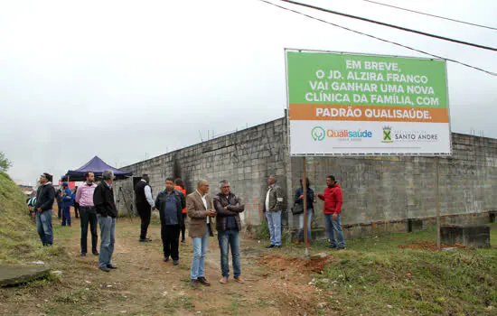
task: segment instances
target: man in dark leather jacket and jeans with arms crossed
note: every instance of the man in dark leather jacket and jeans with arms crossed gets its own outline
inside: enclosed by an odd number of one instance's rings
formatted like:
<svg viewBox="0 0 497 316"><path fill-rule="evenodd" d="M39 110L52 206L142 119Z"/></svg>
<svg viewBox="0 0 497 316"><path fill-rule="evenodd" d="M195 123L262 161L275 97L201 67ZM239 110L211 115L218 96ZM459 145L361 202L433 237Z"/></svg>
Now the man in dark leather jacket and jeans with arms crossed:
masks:
<svg viewBox="0 0 497 316"><path fill-rule="evenodd" d="M241 220L239 213L245 210L239 198L231 192L230 182L220 181L220 192L212 199L216 209L216 229L218 230L218 241L220 243L220 270L221 284L226 284L230 277L230 265L228 253L231 247L231 259L233 261L233 272L235 281L245 283L241 278L239 263L239 231Z"/></svg>

